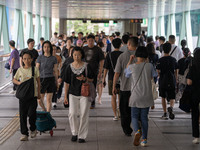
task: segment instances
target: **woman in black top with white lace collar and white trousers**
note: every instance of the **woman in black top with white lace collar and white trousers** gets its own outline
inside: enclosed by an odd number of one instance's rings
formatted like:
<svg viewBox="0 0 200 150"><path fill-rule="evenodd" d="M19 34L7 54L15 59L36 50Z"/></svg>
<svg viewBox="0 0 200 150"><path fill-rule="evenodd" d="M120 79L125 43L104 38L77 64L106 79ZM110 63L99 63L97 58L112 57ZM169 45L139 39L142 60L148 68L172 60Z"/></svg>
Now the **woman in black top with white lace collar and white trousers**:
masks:
<svg viewBox="0 0 200 150"><path fill-rule="evenodd" d="M88 134L89 110L91 102L88 97L81 95L81 87L85 82L92 82L94 73L89 64L83 62L85 54L82 48L75 47L72 52L74 62L65 70L65 100L64 104L69 106L69 124L72 132L71 141L78 140L85 143ZM69 93L69 99L67 94ZM80 113L80 114L79 114ZM78 119L79 116L79 119Z"/></svg>

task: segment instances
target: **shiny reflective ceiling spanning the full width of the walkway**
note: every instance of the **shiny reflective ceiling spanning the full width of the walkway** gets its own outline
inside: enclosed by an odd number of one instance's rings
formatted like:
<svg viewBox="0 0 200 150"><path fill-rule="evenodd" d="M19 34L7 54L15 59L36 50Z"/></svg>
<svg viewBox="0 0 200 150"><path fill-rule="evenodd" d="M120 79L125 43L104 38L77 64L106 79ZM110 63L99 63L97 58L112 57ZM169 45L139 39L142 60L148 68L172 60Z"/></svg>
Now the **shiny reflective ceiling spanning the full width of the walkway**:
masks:
<svg viewBox="0 0 200 150"><path fill-rule="evenodd" d="M153 8L160 16L162 1L165 15L172 13L171 1L176 1L176 13L187 10L184 1L191 1L191 10L200 9L200 0L0 0L0 4L53 18L133 19L151 17Z"/></svg>

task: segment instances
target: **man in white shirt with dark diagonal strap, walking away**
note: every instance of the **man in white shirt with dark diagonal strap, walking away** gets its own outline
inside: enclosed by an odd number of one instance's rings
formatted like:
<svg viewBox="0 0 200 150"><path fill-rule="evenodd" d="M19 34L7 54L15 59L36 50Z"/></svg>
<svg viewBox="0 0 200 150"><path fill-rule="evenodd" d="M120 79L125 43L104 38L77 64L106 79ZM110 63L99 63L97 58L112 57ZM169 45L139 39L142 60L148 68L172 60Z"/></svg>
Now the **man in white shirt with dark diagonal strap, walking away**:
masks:
<svg viewBox="0 0 200 150"><path fill-rule="evenodd" d="M169 43L172 45L171 51L170 51L170 55L174 58L176 58L176 60L178 61L179 59L183 58L183 51L180 49L180 47L178 47L177 45L175 45L175 41L176 38L174 35L170 35L169 36ZM162 56L164 56L164 53L162 52Z"/></svg>

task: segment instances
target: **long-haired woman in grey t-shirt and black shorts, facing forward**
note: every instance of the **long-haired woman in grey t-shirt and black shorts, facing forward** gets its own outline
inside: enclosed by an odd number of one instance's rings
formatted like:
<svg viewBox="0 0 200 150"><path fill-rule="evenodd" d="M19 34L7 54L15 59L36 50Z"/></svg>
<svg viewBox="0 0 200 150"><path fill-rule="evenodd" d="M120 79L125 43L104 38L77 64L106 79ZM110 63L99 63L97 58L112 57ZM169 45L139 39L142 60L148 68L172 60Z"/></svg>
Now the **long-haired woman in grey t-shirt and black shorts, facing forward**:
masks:
<svg viewBox="0 0 200 150"><path fill-rule="evenodd" d="M41 99L38 100L43 111L50 112L52 108L52 96L56 91L58 79L57 59L53 55L53 48L49 41L42 45L42 54L37 59L36 67L40 70ZM44 106L44 96L47 93L47 106Z"/></svg>

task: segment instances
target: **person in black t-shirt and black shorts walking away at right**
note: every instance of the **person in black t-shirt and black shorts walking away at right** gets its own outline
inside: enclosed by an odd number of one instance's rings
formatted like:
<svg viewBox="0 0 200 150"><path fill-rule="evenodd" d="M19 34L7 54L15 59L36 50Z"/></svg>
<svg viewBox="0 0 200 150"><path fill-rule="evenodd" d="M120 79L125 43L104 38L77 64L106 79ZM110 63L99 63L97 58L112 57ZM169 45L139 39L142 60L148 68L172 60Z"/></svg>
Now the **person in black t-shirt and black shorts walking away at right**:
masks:
<svg viewBox="0 0 200 150"><path fill-rule="evenodd" d="M162 107L164 115L161 119L167 120L167 104L166 98L170 99L170 107L168 107L169 118L174 119L173 107L175 102L175 85L177 79L178 63L176 59L170 56L171 44L163 45L164 56L158 60L156 66L159 75L159 96L162 97Z"/></svg>

